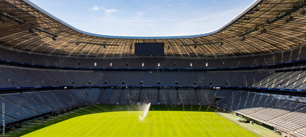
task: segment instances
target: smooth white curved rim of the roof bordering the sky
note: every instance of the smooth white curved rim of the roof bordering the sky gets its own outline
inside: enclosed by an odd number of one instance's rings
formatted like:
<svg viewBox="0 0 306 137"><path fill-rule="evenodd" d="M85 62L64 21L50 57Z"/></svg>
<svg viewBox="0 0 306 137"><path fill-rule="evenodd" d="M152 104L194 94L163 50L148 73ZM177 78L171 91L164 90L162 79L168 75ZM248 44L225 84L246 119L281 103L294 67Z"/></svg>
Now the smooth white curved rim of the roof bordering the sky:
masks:
<svg viewBox="0 0 306 137"><path fill-rule="evenodd" d="M185 39L185 38L194 38L194 37L203 37L203 36L207 36L207 35L211 35L214 33L217 33L218 31L224 29L226 26L230 25L231 23L233 23L236 19L240 18L242 15L244 15L246 12L248 12L250 9L252 9L255 5L257 5L261 0L255 0L251 5L249 5L246 9L244 9L242 12L240 12L237 16L235 16L233 19L231 19L229 22L227 22L226 24L224 24L223 26L221 26L220 28L207 32L207 33L202 33L202 34L196 34L196 35L187 35L187 36L147 36L147 37L138 37L138 36L110 36L110 35L102 35L102 34L96 34L96 33L89 33L83 30L79 30L71 25L69 25L68 23L58 19L57 17L53 16L52 14L50 14L49 12L45 11L44 9L40 8L38 5L35 5L33 2L31 2L30 0L23 0L24 2L26 2L27 4L31 5L32 7L34 7L35 9L39 10L40 12L42 12L43 14L46 14L47 16L49 16L50 18L58 21L59 23L62 23L63 25L79 32L79 33L83 33L86 35L90 35L90 36L94 36L94 37L105 37L105 38L114 38L114 39Z"/></svg>

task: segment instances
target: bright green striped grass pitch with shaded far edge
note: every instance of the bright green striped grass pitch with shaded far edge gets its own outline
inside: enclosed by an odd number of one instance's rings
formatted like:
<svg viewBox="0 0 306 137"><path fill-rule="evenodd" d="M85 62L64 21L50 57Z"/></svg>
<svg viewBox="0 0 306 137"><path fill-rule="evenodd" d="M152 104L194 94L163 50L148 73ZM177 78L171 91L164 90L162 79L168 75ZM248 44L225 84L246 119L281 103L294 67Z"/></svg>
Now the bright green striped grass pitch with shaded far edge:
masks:
<svg viewBox="0 0 306 137"><path fill-rule="evenodd" d="M205 106L152 105L139 115L137 105L94 105L23 136L257 136Z"/></svg>

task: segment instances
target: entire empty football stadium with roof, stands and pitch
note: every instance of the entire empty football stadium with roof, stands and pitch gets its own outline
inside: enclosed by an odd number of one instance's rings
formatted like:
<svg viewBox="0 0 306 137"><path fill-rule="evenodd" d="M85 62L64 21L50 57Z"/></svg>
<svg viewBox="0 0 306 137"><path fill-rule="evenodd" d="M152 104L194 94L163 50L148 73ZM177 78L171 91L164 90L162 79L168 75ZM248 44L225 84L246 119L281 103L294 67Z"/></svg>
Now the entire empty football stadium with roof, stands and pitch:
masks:
<svg viewBox="0 0 306 137"><path fill-rule="evenodd" d="M1 136L306 137L305 14L255 0L207 33L116 36L0 0Z"/></svg>

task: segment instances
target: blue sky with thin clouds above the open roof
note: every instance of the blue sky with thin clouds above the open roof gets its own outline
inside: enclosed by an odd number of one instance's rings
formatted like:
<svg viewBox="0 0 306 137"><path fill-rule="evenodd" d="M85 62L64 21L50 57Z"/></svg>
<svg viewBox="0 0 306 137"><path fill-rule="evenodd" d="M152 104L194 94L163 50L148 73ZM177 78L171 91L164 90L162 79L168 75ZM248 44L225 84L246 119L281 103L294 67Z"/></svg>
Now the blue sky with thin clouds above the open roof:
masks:
<svg viewBox="0 0 306 137"><path fill-rule="evenodd" d="M183 36L227 23L254 0L31 0L83 31L115 36Z"/></svg>

